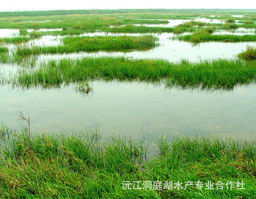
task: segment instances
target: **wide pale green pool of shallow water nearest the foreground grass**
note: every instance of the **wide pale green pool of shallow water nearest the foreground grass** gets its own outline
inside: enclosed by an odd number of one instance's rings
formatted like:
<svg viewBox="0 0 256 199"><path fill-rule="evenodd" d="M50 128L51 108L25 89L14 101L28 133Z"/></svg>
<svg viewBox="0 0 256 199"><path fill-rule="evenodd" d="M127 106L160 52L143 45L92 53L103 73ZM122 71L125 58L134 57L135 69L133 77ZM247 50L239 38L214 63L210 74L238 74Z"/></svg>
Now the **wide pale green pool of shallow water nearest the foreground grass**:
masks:
<svg viewBox="0 0 256 199"><path fill-rule="evenodd" d="M29 113L32 130L58 133L100 126L103 136L126 134L138 139L213 134L249 138L256 129L256 87L233 92L164 89L125 82L93 82L93 93L82 96L74 86L61 89L0 90L1 120L19 126L19 110Z"/></svg>

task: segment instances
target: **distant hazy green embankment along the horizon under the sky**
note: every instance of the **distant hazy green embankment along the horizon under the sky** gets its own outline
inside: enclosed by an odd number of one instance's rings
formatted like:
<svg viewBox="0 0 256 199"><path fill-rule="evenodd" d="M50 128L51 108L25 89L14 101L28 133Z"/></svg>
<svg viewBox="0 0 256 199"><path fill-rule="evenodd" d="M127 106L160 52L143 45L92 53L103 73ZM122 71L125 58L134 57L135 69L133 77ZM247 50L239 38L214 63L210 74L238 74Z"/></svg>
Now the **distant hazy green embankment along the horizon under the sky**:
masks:
<svg viewBox="0 0 256 199"><path fill-rule="evenodd" d="M134 12L236 12L236 13L256 13L255 9L118 9L118 10L49 10L49 11L14 11L0 12L0 17L18 16L51 16L70 14L104 14L104 13L134 13Z"/></svg>

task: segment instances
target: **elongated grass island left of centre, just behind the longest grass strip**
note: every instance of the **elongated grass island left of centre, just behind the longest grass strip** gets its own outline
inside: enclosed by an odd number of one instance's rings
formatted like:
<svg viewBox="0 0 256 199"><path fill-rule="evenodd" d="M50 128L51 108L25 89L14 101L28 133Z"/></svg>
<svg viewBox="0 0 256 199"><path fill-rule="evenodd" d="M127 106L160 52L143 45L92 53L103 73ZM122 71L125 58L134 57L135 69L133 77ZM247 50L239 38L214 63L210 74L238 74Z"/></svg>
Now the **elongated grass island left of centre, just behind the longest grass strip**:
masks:
<svg viewBox="0 0 256 199"><path fill-rule="evenodd" d="M155 47L157 38L152 35L145 36L95 36L95 37L65 37L63 45L58 46L18 46L16 56L72 53L96 50L120 50Z"/></svg>

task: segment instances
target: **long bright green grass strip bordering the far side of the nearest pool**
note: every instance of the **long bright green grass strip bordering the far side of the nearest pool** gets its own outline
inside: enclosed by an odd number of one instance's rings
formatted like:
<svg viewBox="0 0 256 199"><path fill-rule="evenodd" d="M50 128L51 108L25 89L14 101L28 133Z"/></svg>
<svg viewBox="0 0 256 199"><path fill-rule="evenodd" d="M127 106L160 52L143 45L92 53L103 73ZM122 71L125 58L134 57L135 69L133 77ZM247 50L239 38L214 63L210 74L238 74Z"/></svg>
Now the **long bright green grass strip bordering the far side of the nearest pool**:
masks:
<svg viewBox="0 0 256 199"><path fill-rule="evenodd" d="M239 59L205 60L198 63L182 60L170 63L163 60L132 60L124 57L87 57L44 62L37 69L20 70L8 81L27 87L47 87L104 78L164 81L166 86L229 89L236 85L255 83L255 74L255 62L244 63Z"/></svg>

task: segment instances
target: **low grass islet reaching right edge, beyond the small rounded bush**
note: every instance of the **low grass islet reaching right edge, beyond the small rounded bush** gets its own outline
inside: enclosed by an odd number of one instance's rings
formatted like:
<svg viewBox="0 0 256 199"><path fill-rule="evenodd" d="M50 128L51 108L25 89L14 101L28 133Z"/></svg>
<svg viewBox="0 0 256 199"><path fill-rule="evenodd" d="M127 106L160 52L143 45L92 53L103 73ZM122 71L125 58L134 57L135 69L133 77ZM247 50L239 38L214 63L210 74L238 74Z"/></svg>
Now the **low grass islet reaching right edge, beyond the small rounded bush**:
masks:
<svg viewBox="0 0 256 199"><path fill-rule="evenodd" d="M194 32L191 35L179 35L173 37L179 41L187 41L191 43L220 41L220 42L249 42L256 41L256 35L212 35L203 31Z"/></svg>

